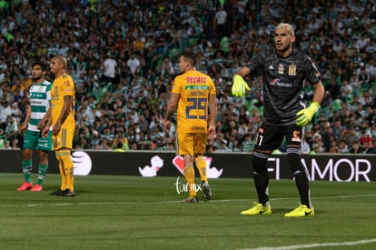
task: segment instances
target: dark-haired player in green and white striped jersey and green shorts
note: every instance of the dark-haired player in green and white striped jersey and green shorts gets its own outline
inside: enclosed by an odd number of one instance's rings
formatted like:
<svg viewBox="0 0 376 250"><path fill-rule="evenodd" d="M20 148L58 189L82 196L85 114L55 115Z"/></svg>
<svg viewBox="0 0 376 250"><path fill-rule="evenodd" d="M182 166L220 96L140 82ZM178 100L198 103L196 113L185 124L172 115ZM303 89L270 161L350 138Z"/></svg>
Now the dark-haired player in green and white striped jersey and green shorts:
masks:
<svg viewBox="0 0 376 250"><path fill-rule="evenodd" d="M45 80L47 65L43 61L36 61L32 65L32 75L34 84L30 87L30 105L27 108L25 123L19 128L19 132L25 132L23 147L22 168L25 175L25 182L17 188L17 191L42 191L45 173L48 169L48 151L52 150L51 130L47 137L42 137L42 132L38 127L43 127L50 116L49 107L51 101L52 84ZM38 181L33 186L31 182L32 155L33 151L38 151Z"/></svg>

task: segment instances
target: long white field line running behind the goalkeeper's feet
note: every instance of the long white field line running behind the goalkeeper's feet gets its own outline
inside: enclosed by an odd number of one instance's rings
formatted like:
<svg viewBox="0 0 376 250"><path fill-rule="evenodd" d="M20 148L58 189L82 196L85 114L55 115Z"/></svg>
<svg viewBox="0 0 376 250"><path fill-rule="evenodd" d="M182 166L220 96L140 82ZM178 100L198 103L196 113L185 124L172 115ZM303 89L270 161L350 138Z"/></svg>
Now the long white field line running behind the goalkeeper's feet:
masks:
<svg viewBox="0 0 376 250"><path fill-rule="evenodd" d="M341 196L321 196L321 197L312 197L312 200L315 199L341 199L341 198L353 198L353 197L370 197L376 196L376 194L368 194L368 195L341 195ZM74 199L74 197L62 197L62 199ZM296 197L285 197L285 198L274 198L271 201L281 201L281 200L292 200L296 199ZM231 203L231 202L247 202L250 199L226 199L226 200L211 200L210 203ZM119 201L119 202L83 202L83 203L53 203L53 204L26 204L26 205L0 205L0 208L3 207L20 207L20 206L60 206L60 205L124 205L124 204L135 204L135 203L151 203L151 204L174 204L174 203L182 203L180 200L176 201Z"/></svg>

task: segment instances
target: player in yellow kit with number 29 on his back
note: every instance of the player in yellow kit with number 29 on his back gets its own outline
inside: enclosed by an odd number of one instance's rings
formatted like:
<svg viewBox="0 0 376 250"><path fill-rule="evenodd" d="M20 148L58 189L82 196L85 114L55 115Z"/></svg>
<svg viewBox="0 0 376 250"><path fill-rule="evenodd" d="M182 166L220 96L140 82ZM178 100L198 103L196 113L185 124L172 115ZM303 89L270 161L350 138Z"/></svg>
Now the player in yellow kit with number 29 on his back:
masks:
<svg viewBox="0 0 376 250"><path fill-rule="evenodd" d="M182 75L176 76L173 80L171 98L163 119L163 129L168 133L169 120L177 108L176 154L183 155L184 176L189 188L189 197L183 202L198 202L194 185L194 163L201 175L204 198L209 200L212 197L203 153L207 139L215 135L217 115L215 85L212 78L197 71L195 65L196 56L190 51L183 52L179 58Z"/></svg>

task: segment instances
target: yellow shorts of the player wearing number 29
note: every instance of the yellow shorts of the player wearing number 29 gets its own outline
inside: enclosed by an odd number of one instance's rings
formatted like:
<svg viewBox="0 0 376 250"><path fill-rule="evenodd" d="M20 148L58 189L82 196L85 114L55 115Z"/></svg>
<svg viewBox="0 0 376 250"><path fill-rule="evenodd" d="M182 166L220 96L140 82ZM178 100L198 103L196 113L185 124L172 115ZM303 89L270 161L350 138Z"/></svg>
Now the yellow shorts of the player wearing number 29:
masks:
<svg viewBox="0 0 376 250"><path fill-rule="evenodd" d="M178 134L176 149L177 155L199 155L206 151L206 134Z"/></svg>

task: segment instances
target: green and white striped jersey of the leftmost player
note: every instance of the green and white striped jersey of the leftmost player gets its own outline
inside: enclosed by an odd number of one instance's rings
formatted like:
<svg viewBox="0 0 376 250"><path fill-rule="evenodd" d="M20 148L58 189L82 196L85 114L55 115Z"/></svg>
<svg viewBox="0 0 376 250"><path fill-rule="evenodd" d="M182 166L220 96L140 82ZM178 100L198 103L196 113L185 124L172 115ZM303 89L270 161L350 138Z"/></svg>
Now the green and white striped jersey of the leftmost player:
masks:
<svg viewBox="0 0 376 250"><path fill-rule="evenodd" d="M51 87L52 84L46 80L39 85L32 85L30 87L30 105L32 112L28 130L39 131L36 126L50 107Z"/></svg>

